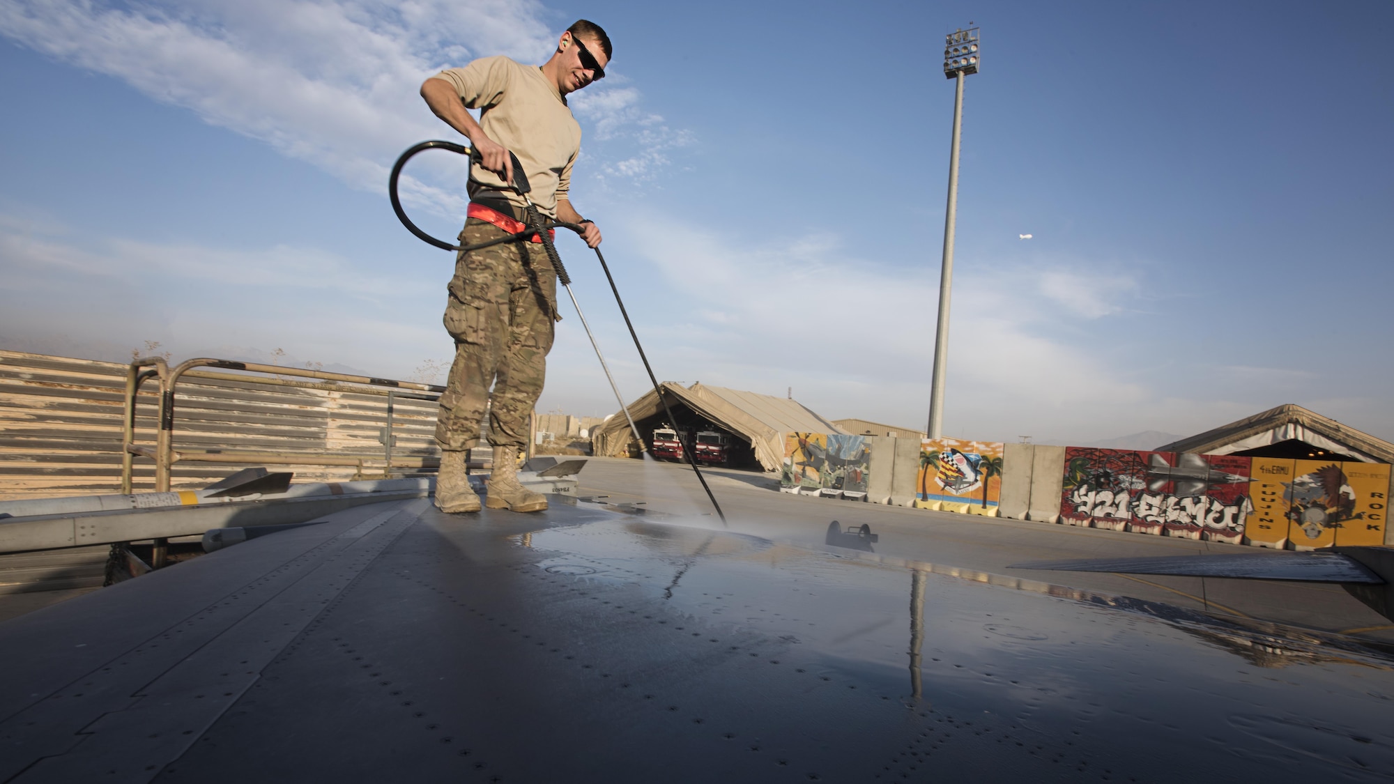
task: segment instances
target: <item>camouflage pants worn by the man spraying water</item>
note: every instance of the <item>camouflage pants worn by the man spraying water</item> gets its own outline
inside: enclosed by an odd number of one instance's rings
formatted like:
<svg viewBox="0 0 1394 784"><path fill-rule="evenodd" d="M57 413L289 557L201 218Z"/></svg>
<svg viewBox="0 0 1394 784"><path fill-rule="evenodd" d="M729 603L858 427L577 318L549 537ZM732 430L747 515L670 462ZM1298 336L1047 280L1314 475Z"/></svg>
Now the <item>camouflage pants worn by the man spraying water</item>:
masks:
<svg viewBox="0 0 1394 784"><path fill-rule="evenodd" d="M503 229L470 218L460 244L502 236ZM487 403L489 444L526 446L555 335L556 273L546 251L539 243L502 243L457 254L443 321L454 338L454 364L436 414L441 449L475 446Z"/></svg>

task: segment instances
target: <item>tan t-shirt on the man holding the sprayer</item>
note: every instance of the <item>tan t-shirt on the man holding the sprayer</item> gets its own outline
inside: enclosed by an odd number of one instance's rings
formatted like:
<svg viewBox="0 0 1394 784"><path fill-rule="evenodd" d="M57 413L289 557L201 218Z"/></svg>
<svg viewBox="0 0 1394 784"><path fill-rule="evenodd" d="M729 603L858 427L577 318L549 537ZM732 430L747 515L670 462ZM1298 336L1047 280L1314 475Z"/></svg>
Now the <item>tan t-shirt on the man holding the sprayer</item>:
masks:
<svg viewBox="0 0 1394 784"><path fill-rule="evenodd" d="M523 163L533 204L555 218L556 199L566 198L572 165L581 151L581 127L556 85L537 66L503 56L484 57L431 78L450 82L467 107L480 109L484 133ZM517 206L526 205L493 172L475 163L471 174L470 198L506 198Z"/></svg>

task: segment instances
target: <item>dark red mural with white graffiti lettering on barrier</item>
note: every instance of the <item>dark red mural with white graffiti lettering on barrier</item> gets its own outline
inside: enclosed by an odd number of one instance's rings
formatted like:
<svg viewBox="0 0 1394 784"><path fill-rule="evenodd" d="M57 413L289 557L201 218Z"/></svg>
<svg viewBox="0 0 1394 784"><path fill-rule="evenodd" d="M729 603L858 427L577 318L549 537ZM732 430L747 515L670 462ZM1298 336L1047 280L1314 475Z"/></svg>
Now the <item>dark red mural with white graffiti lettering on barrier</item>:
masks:
<svg viewBox="0 0 1394 784"><path fill-rule="evenodd" d="M1061 522L1239 543L1253 504L1249 458L1065 448Z"/></svg>

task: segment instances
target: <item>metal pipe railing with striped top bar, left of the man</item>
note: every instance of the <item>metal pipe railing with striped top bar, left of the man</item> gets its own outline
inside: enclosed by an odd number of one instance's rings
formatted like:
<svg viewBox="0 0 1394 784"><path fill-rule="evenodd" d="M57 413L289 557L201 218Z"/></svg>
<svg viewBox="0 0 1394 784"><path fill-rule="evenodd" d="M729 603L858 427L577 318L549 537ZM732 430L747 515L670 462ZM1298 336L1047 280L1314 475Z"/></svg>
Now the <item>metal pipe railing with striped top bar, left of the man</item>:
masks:
<svg viewBox="0 0 1394 784"><path fill-rule="evenodd" d="M202 367L261 372L273 375L275 378L195 370ZM280 378L283 375L314 378L328 384L289 381ZM158 492L169 492L170 470L177 462L347 466L357 467L357 476L362 476L365 460L376 462L376 458L342 453L333 455L326 451L174 449L174 393L178 382L185 377L251 382L269 386L298 386L337 392L383 395L388 398L386 427L379 431L379 442L383 445L383 476L389 476L393 467L427 469L438 467L441 465L441 459L435 456L393 456L392 448L396 442L396 437L393 435L395 402L397 399L435 402L439 400L441 393L445 392L443 386L436 386L434 384L417 384L413 381L374 378L367 375L326 372L322 370L240 363L209 357L187 360L171 370L163 357L142 357L132 361L125 374L125 409L121 434L121 442L124 445L121 451L121 492L131 492L135 458L148 458L155 462L155 490ZM137 403L141 386L152 378L159 382L158 428L155 445L144 446L135 444ZM339 386L339 384L353 384L355 386ZM468 458L467 462L471 469L488 467L485 463L475 463L468 460Z"/></svg>

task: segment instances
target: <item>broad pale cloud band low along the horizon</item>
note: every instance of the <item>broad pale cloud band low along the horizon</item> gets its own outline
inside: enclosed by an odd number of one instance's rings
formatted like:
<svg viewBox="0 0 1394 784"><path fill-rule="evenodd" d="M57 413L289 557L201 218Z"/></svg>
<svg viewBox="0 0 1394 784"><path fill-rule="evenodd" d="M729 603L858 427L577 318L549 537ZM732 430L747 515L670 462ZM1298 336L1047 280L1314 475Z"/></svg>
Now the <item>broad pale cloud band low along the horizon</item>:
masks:
<svg viewBox="0 0 1394 784"><path fill-rule="evenodd" d="M626 293L636 293L629 290L640 275L636 264L666 279L627 303L659 378L771 395L793 386L796 399L825 416L923 423L938 283L931 272L859 258L836 237L751 247L644 209L629 215L633 223L620 234L637 243L611 254L612 266ZM570 261L574 254L565 250ZM634 399L648 378L608 285L594 265L574 261L577 296L620 389ZM1101 326L1059 333L1051 326L1069 311L1040 296L1051 269L973 271L983 266L963 259L955 279L949 435L1030 434L1058 444L1149 428L1199 432L1282 402L1388 432L1381 400L1328 399L1322 374L1186 363L1149 375L1147 365L1168 365L1165 354L1098 347L1100 333L1119 328L1110 319L1126 315L1086 314L1079 318ZM425 359L447 361L452 352L435 272L386 276L314 248L89 239L0 213L0 336L18 349L120 359L121 346L141 340L160 340L181 356L279 346L389 378L406 378ZM541 407L615 412L580 321L570 306L563 312ZM39 335L35 324L50 326Z"/></svg>

